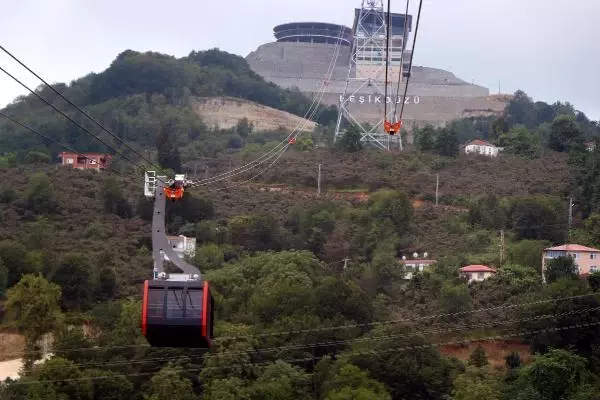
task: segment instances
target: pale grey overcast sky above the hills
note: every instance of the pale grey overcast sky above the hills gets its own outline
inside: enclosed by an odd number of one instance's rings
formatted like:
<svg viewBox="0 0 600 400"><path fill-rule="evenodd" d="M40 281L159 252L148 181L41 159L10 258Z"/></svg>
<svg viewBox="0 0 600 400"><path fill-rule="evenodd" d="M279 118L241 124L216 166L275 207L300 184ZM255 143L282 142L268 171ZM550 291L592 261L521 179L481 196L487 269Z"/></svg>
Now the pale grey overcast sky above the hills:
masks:
<svg viewBox="0 0 600 400"><path fill-rule="evenodd" d="M219 47L246 56L291 21L352 25L361 0L4 1L0 43L50 82L108 67L125 49L178 57ZM405 0L392 0L402 13ZM411 1L416 22L418 1ZM568 100L600 119L599 0L424 0L415 65L448 69L496 93ZM413 26L414 33L414 26ZM39 82L0 54L0 65ZM0 74L0 107L26 93Z"/></svg>

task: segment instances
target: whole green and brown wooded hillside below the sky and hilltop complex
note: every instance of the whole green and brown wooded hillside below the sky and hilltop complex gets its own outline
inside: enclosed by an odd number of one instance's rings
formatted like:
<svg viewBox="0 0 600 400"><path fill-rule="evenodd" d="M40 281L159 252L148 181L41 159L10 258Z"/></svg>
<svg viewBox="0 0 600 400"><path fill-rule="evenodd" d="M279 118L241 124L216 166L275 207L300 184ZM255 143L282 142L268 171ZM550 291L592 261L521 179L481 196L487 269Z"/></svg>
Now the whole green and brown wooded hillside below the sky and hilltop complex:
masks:
<svg viewBox="0 0 600 400"><path fill-rule="evenodd" d="M181 60L125 52L63 87L103 123L121 121L123 138L154 162L195 176L243 165L283 137L240 121L215 138L169 88L285 107L304 99L217 51ZM303 115L301 104L288 111ZM31 97L6 111L101 150ZM573 259L557 258L543 285L541 250L567 240L600 246L600 147L585 145L598 136L568 103L517 92L501 118L425 127L402 153L364 149L351 129L333 146L322 121L255 185L241 181L257 169L186 190L166 218L169 233L196 238L191 262L214 288L215 346L203 352L149 348L141 336L152 204L140 171L125 162L100 173L64 169L53 160L58 148L3 122L2 329L26 346L0 356L26 362L1 397L594 400L600 277L580 277ZM504 151L464 155L460 145L476 137ZM289 190L261 190L269 184ZM407 269L402 257L415 252L437 263ZM467 284L458 270L468 264L497 272ZM34 366L48 333L54 357Z"/></svg>

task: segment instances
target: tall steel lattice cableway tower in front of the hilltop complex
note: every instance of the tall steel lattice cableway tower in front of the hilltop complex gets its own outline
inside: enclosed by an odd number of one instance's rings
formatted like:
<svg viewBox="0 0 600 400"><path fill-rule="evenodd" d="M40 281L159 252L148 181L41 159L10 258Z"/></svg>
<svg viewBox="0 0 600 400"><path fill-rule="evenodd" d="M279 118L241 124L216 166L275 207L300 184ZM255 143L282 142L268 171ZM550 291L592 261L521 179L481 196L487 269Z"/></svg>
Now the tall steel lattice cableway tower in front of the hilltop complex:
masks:
<svg viewBox="0 0 600 400"><path fill-rule="evenodd" d="M392 121L394 118L394 102L400 101L395 96L396 85L398 79L406 75L402 71L403 63L395 65L396 63L390 62L388 82L385 82L387 18L388 14L383 7L383 0L362 0L361 8L354 23L352 55L348 66L348 77L344 93L340 97L334 141L337 141L345 134L345 130L342 130L342 123L347 122L358 129L362 142L371 143L383 150L389 150L391 144L396 144L402 150L400 133L390 136L383 129L383 102L387 101L386 119ZM409 22L404 21L404 24L406 23ZM404 30L404 27L402 27L402 30ZM400 45L397 44L399 43L398 41L401 42ZM395 47L396 52L398 50L401 54L404 52L406 47L404 37L398 39L397 36L394 36L391 42L390 50ZM390 61L394 60L392 51L390 51L390 59ZM397 68L400 68L401 74L398 74ZM384 85L388 86L387 99L385 98ZM371 101L371 96L373 96L375 103L379 103L379 108L381 108L382 118L373 126L366 126L366 124L360 123L349 109L350 99L355 99L359 92L364 94L365 87L373 89L373 93L368 95L369 101Z"/></svg>

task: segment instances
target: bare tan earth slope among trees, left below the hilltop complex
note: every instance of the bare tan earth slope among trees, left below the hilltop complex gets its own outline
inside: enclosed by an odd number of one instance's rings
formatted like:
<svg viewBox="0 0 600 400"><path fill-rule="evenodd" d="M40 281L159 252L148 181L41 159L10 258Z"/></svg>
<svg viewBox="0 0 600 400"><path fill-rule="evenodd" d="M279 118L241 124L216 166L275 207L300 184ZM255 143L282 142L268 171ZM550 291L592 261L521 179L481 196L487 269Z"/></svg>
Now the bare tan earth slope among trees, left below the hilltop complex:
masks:
<svg viewBox="0 0 600 400"><path fill-rule="evenodd" d="M281 127L289 131L296 127L312 131L317 125L288 112L234 97L199 97L192 107L211 128L217 126L219 129L230 129L242 118L248 118L255 131L270 131Z"/></svg>

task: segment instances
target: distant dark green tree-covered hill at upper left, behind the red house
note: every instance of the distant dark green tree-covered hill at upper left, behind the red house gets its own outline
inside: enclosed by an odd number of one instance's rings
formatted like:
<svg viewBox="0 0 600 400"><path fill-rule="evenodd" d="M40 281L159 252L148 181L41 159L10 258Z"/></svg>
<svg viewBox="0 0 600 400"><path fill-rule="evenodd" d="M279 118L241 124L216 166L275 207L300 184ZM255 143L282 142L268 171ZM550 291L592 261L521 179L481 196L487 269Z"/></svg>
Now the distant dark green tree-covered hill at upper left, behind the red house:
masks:
<svg viewBox="0 0 600 400"><path fill-rule="evenodd" d="M193 156L215 155L228 147L239 148L244 142L235 131L215 138L212 127L205 126L192 111L195 96L238 97L301 117L311 104L311 99L298 90L282 89L266 82L250 70L242 57L217 49L194 51L180 59L160 53L127 50L119 54L105 71L89 74L69 85L56 84L55 87L135 148L153 149L157 133L169 125L175 128L174 140L179 146L200 143L200 146L194 147L196 152ZM73 111L49 88L40 86L36 92L57 108L68 110L68 115L113 147L127 150ZM16 99L4 111L79 151L110 152L33 95ZM336 116L335 107L324 107L316 121L327 125ZM203 151L201 147L206 142L211 142L211 146ZM62 150L4 120L0 121L0 149L2 153L15 152L20 160L34 150L50 157L55 157Z"/></svg>

